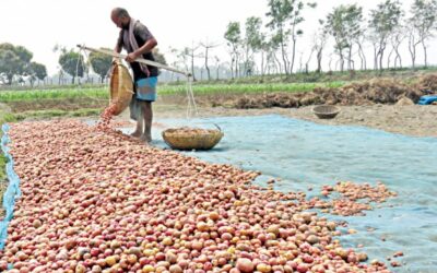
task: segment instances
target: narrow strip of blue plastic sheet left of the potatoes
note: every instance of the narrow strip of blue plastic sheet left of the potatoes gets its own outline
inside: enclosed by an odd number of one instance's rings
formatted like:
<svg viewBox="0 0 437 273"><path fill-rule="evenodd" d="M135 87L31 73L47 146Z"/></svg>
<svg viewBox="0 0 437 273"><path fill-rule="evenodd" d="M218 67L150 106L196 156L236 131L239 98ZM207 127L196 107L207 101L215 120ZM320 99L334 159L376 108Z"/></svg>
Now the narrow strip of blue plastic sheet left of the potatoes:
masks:
<svg viewBox="0 0 437 273"><path fill-rule="evenodd" d="M3 194L3 209L5 211L3 219L0 222L0 249L4 248L4 244L8 237L8 225L13 216L13 210L15 204L15 199L21 195L20 191L20 178L15 174L13 166L14 161L9 153L10 149L8 144L10 143L10 139L8 136L8 131L10 127L8 124L3 124L1 130L3 131L3 136L1 138L1 150L7 157L7 177L8 177L8 188Z"/></svg>

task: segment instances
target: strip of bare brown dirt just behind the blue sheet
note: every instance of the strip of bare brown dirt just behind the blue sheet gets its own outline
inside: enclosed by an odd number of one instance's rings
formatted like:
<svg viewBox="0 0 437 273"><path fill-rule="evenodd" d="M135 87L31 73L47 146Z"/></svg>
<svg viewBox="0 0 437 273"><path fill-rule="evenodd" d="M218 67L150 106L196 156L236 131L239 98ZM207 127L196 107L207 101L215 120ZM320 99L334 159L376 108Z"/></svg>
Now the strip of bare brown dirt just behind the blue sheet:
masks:
<svg viewBox="0 0 437 273"><path fill-rule="evenodd" d="M364 126L392 133L412 136L437 138L437 106L435 105L371 105L340 106L341 112L333 119L319 119L312 106L300 108L235 109L225 107L199 108L200 117L255 116L279 114L331 126ZM155 105L155 118L177 118L187 116L187 107L181 105Z"/></svg>

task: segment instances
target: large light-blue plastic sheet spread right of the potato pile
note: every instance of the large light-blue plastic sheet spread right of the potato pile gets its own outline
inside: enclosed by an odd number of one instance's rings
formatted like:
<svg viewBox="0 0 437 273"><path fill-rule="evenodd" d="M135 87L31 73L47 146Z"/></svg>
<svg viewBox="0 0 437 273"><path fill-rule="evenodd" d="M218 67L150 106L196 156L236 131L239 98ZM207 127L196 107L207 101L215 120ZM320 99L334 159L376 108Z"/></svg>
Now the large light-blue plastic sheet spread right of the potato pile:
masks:
<svg viewBox="0 0 437 273"><path fill-rule="evenodd" d="M369 261L403 251L393 260L405 262L393 272L437 272L437 139L412 138L365 127L322 126L279 115L220 117L209 120L157 120L152 144L160 141L160 129L180 124L203 127L215 122L224 138L211 151L184 152L211 163L260 170L257 179L281 178L276 190L305 191L320 197L320 186L336 181L382 181L399 197L375 204L366 216L330 219L346 221L358 233L338 237L345 247L366 252ZM308 191L311 187L314 190ZM377 207L380 206L380 207ZM375 228L368 232L368 228ZM383 238L383 240L382 240Z"/></svg>

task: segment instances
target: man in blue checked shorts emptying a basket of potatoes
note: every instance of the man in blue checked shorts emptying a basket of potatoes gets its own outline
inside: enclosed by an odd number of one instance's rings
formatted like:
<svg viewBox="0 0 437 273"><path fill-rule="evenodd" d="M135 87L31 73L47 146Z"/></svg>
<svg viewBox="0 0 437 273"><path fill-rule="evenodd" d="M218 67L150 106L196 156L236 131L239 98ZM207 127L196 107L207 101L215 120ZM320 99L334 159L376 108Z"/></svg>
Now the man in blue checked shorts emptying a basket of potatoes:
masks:
<svg viewBox="0 0 437 273"><path fill-rule="evenodd" d="M149 32L147 27L132 19L128 11L122 8L115 8L110 19L117 27L121 28L117 45L114 49L128 52L128 61L133 71L133 85L135 95L130 105L131 118L137 120L135 131L131 134L145 142L152 141L152 103L156 99L156 84L158 70L156 67L135 62L137 58L154 61L152 49L157 45L156 39Z"/></svg>

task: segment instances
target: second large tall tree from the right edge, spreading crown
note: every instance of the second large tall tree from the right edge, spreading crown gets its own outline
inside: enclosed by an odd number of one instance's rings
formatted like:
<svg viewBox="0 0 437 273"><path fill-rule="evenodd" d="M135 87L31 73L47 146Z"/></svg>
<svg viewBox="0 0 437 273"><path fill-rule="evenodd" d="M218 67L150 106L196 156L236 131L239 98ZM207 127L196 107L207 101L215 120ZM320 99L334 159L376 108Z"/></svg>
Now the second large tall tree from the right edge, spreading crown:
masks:
<svg viewBox="0 0 437 273"><path fill-rule="evenodd" d="M403 12L399 0L386 0L379 3L377 9L370 10L369 28L373 33L375 69L378 69L379 66L380 72L382 72L382 59L387 43L390 35L400 25L402 16Z"/></svg>

